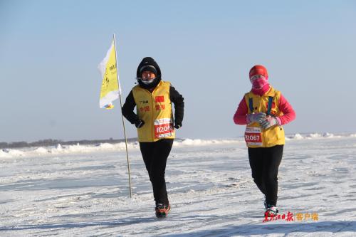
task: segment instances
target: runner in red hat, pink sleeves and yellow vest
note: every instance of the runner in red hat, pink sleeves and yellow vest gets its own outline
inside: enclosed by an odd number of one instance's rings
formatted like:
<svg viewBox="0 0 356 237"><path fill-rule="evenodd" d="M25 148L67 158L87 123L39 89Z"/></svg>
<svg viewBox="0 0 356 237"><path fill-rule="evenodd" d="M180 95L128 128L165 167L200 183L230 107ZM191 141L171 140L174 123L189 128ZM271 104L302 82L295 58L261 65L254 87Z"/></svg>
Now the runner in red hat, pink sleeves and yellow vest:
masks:
<svg viewBox="0 0 356 237"><path fill-rule="evenodd" d="M250 92L244 95L234 115L236 125L246 125L245 141L253 181L265 195L265 216L278 213L278 167L285 143L282 125L295 119L293 107L268 83L263 65L251 68Z"/></svg>

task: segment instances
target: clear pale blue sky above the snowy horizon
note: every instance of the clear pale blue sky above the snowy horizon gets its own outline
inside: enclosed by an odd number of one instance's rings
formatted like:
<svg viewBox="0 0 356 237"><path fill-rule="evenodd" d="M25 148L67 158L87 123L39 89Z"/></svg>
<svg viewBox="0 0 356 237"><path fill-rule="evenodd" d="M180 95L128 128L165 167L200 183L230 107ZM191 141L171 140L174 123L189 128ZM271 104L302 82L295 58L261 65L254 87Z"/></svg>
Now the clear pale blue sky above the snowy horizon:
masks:
<svg viewBox="0 0 356 237"><path fill-rule="evenodd" d="M356 132L356 1L0 0L0 142L122 138L119 103L98 107L112 33L123 101L146 56L184 96L177 137L243 135L255 64L295 109L287 133Z"/></svg>

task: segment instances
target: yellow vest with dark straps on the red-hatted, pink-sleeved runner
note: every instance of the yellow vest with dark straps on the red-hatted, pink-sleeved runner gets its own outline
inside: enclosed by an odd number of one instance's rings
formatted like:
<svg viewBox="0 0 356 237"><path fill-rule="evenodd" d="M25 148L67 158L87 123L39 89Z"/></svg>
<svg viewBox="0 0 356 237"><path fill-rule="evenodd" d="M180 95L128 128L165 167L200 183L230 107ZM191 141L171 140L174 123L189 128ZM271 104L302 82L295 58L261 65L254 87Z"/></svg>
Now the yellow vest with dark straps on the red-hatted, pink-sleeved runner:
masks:
<svg viewBox="0 0 356 237"><path fill-rule="evenodd" d="M271 99L270 99L271 97ZM265 112L268 110L268 100L271 100L271 116L281 116L283 112L278 109L281 92L270 88L265 95L255 95L252 92L245 94L248 114L252 112ZM252 101L252 104L251 104ZM251 111L251 108L253 111ZM247 147L273 147L277 144L285 144L284 130L282 126L274 125L263 130L257 122L246 125L245 141Z"/></svg>

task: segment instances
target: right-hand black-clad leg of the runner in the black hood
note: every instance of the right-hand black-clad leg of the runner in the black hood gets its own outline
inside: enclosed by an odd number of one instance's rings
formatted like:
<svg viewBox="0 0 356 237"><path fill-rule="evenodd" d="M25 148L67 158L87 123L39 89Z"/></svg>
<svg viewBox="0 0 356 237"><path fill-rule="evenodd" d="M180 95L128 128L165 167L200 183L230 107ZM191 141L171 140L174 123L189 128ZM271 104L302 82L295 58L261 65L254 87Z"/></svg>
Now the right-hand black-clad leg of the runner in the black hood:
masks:
<svg viewBox="0 0 356 237"><path fill-rule="evenodd" d="M155 142L155 150L150 167L153 194L156 204L168 205L168 195L164 173L166 170L167 158L171 152L173 139L160 139Z"/></svg>

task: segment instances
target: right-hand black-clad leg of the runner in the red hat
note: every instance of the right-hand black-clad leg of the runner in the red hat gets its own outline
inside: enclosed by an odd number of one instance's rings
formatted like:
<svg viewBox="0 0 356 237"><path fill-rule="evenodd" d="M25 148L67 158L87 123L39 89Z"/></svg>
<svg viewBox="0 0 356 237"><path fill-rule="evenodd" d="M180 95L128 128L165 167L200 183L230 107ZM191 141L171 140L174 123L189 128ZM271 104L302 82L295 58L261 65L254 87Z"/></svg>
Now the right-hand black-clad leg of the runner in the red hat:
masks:
<svg viewBox="0 0 356 237"><path fill-rule="evenodd" d="M278 199L278 168L283 157L283 145L265 148L263 182L266 187L266 202L276 206Z"/></svg>

